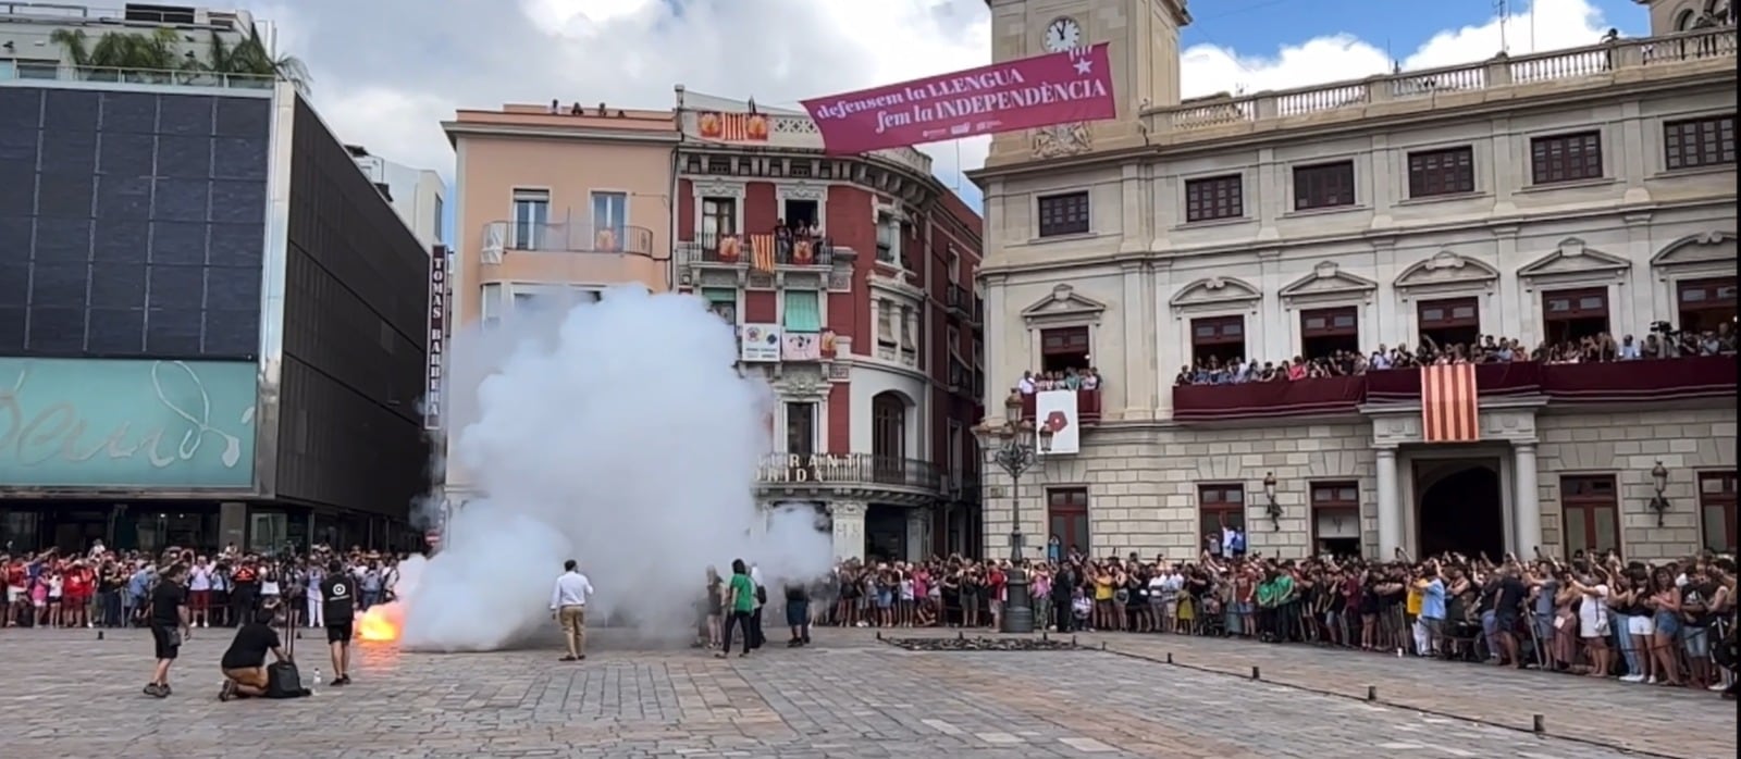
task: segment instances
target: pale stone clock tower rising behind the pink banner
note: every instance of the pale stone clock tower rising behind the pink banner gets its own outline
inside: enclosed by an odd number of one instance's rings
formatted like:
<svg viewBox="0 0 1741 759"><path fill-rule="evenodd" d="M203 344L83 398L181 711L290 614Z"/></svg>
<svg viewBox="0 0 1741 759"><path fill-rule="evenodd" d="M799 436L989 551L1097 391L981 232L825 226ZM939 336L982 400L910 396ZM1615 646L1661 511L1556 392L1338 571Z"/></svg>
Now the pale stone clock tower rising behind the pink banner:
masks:
<svg viewBox="0 0 1741 759"><path fill-rule="evenodd" d="M992 63L1109 44L1118 117L992 138L989 165L1142 144L1139 115L1179 104L1186 0L985 0Z"/></svg>

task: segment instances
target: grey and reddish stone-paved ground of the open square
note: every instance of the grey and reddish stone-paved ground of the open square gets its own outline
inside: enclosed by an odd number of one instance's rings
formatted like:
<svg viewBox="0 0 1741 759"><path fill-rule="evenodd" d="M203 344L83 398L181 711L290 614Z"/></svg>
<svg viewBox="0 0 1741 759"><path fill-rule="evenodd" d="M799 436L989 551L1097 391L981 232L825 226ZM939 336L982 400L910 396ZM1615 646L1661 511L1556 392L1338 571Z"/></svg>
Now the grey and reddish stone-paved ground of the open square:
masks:
<svg viewBox="0 0 1741 759"><path fill-rule="evenodd" d="M350 688L218 703L226 630L197 630L167 700L139 695L145 634L94 637L0 630L5 756L1607 759L1637 756L1600 745L1607 722L1650 724L1644 715L1664 710L1675 728L1635 749L1736 756L1736 710L1717 698L1224 641L1109 635L1106 653L935 655L865 630L820 630L815 648L714 660L613 646L604 634L580 665L548 649L442 656L362 646ZM324 651L317 635L301 646L312 677ZM1165 665L1166 653L1180 665ZM1262 681L1250 679L1252 665ZM1379 681L1381 700L1313 693L1295 679L1361 693ZM1562 729L1590 742L1454 715L1515 724L1544 700L1565 703L1572 688L1584 705L1549 710L1548 724L1577 722Z"/></svg>

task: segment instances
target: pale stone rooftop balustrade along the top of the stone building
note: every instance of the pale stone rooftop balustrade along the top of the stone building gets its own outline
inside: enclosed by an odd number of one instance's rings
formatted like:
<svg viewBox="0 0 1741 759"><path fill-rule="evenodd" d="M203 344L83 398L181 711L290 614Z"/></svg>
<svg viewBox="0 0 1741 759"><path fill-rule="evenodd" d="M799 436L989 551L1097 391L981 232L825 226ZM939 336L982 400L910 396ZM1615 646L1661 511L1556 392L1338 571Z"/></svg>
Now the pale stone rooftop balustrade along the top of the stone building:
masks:
<svg viewBox="0 0 1741 759"><path fill-rule="evenodd" d="M1556 82L1576 87L1602 87L1621 77L1654 77L1654 70L1694 61L1736 59L1736 28L1717 26L1673 35L1614 40L1598 45L1494 57L1462 66L1424 71L1400 71L1358 82L1334 82L1316 87L1252 96L1200 97L1142 115L1149 132L1165 141L1217 139L1254 129L1276 129L1281 120L1301 125L1325 125L1368 115L1395 115L1410 110L1464 108L1485 97L1502 99L1515 85ZM1633 71L1628 75L1626 71ZM1584 80L1584 82L1577 82ZM1264 124L1259 127L1257 124Z"/></svg>

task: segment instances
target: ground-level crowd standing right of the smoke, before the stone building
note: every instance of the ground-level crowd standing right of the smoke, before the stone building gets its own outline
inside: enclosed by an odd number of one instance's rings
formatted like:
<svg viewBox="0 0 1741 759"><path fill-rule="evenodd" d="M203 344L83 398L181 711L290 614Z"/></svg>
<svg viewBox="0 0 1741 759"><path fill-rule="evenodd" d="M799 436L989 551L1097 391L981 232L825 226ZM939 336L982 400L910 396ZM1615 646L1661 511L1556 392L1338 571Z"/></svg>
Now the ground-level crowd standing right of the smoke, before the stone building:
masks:
<svg viewBox="0 0 1741 759"><path fill-rule="evenodd" d="M1243 637L1442 658L1734 698L1736 564L1614 552L1445 554L1415 561L1273 559L1203 552L1189 561L1022 562L1041 628ZM1010 561L846 561L811 592L820 625L998 628Z"/></svg>

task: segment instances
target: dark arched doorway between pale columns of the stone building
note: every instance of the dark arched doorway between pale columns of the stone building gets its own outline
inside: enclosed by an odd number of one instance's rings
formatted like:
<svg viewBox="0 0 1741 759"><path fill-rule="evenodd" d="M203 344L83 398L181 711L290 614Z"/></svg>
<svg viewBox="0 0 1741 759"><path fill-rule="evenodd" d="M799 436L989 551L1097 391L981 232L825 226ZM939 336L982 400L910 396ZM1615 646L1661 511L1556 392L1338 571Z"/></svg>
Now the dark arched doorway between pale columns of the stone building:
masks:
<svg viewBox="0 0 1741 759"><path fill-rule="evenodd" d="M1490 465L1442 470L1421 487L1415 524L1421 555L1457 552L1466 557L1506 554L1506 507L1499 470Z"/></svg>

